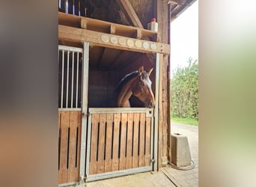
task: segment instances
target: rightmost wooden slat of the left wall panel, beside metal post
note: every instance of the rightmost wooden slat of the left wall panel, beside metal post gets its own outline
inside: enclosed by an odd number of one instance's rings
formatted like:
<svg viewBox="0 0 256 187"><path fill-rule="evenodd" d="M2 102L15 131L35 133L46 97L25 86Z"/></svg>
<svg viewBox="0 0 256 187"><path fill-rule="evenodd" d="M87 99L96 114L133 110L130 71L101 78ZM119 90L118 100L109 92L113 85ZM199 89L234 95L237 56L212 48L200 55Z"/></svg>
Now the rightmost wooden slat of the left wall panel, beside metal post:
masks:
<svg viewBox="0 0 256 187"><path fill-rule="evenodd" d="M81 128L82 128L82 111L78 111L78 130L77 130L77 149L76 149L76 181L79 181L80 169L80 150L81 150Z"/></svg>

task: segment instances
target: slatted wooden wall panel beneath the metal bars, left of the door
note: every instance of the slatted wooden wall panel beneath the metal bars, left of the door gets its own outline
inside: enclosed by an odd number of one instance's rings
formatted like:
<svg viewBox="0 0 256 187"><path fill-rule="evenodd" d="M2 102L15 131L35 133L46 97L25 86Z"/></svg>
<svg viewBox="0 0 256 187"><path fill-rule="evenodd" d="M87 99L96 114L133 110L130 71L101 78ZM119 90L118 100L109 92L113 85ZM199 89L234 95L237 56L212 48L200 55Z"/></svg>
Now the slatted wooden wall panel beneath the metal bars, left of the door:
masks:
<svg viewBox="0 0 256 187"><path fill-rule="evenodd" d="M81 111L58 112L59 184L79 181L81 117Z"/></svg>

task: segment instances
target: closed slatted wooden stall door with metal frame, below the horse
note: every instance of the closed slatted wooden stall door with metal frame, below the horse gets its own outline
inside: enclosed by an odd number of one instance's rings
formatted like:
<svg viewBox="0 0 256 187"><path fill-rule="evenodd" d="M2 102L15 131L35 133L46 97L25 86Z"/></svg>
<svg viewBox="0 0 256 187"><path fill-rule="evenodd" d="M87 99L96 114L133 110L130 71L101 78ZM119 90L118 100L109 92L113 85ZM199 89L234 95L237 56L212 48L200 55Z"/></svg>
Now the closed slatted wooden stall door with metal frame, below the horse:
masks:
<svg viewBox="0 0 256 187"><path fill-rule="evenodd" d="M153 111L89 108L87 181L152 171Z"/></svg>

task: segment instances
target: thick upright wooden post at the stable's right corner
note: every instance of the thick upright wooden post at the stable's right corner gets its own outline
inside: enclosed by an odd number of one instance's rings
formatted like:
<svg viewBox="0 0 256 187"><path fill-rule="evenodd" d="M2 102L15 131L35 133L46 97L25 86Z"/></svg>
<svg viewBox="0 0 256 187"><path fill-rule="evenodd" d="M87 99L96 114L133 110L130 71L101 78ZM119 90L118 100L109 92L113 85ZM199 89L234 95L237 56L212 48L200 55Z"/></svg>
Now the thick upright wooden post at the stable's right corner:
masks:
<svg viewBox="0 0 256 187"><path fill-rule="evenodd" d="M154 4L154 16L158 22L158 39L161 43L168 43L168 0L156 0ZM160 60L160 82L159 82L159 162L158 167L168 163L167 159L167 129L170 114L168 113L169 98L168 98L168 55L161 55Z"/></svg>

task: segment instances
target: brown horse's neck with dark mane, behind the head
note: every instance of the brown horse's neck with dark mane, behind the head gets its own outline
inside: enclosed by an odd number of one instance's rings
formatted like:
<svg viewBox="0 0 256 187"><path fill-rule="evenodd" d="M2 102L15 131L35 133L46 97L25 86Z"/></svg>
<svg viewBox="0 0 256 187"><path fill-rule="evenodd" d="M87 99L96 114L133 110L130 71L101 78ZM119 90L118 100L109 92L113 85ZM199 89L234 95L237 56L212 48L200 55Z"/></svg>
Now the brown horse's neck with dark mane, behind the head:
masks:
<svg viewBox="0 0 256 187"><path fill-rule="evenodd" d="M117 105L118 107L130 107L129 97L132 96L132 83L135 81L136 77L132 78L126 85L121 88L118 93Z"/></svg>

